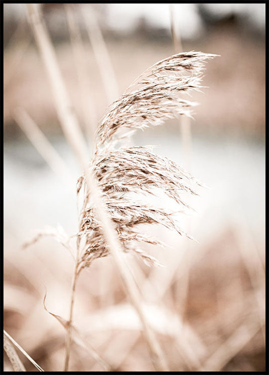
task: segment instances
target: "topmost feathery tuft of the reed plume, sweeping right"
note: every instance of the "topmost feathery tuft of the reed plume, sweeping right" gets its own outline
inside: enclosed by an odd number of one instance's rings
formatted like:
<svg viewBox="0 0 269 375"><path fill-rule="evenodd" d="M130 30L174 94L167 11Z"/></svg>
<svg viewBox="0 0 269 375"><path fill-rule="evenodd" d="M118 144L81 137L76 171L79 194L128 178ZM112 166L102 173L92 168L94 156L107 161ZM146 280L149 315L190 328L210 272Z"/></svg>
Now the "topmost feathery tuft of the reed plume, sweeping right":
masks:
<svg viewBox="0 0 269 375"><path fill-rule="evenodd" d="M101 146L111 142L118 131L144 129L163 124L178 115L190 116L196 103L184 100L179 93L199 90L206 59L215 55L201 52L180 53L154 64L141 74L126 92L107 109L98 125L96 154Z"/></svg>

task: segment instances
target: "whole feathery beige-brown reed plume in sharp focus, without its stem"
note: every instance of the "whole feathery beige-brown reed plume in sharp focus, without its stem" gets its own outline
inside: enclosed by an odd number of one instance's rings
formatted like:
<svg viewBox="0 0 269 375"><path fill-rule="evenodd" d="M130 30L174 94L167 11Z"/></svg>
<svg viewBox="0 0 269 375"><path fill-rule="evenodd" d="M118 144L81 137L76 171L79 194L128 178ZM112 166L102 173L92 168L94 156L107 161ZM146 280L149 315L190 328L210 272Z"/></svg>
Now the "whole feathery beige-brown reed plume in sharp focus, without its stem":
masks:
<svg viewBox="0 0 269 375"><path fill-rule="evenodd" d="M119 147L119 142L136 129L160 125L179 115L191 116L191 108L196 103L180 98L179 93L190 93L202 87L204 63L213 56L188 52L157 62L109 106L96 129L89 168L98 181L102 200L124 251L135 252L149 263L156 261L138 244L161 243L136 231L139 224L162 224L180 235L189 236L180 228L173 213L139 203L137 197L141 193L148 197L160 190L179 206L188 208L181 193L196 194L192 186L199 182L170 159L153 153L150 147ZM83 192L78 237L84 238L85 246L78 272L94 259L110 253L85 184L82 175L77 183L77 193Z"/></svg>

